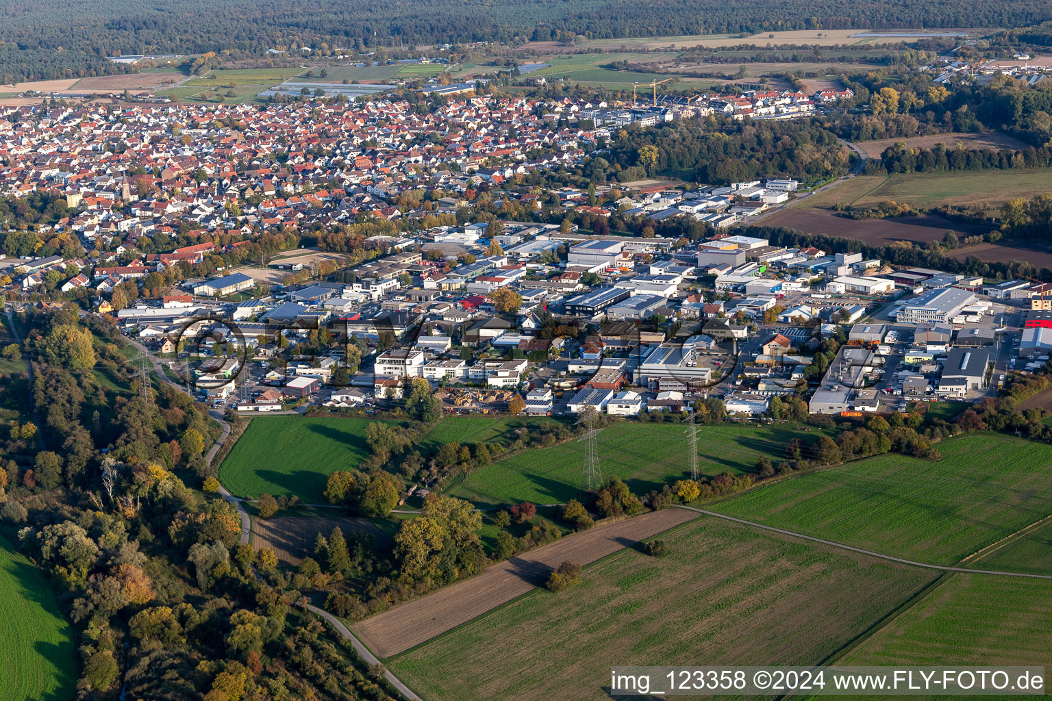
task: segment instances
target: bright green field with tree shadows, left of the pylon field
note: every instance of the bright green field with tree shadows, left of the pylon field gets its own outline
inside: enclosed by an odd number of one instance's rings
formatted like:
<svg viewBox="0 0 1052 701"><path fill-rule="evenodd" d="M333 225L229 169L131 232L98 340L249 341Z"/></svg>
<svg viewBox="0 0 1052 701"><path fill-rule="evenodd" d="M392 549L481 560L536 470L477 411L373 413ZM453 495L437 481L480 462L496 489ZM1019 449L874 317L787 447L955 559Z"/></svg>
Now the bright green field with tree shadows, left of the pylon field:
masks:
<svg viewBox="0 0 1052 701"><path fill-rule="evenodd" d="M254 418L220 466L219 479L237 496L295 494L308 503L325 503L328 476L358 467L369 454L365 427L373 420Z"/></svg>

